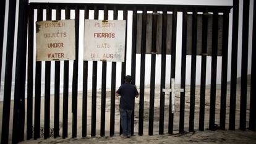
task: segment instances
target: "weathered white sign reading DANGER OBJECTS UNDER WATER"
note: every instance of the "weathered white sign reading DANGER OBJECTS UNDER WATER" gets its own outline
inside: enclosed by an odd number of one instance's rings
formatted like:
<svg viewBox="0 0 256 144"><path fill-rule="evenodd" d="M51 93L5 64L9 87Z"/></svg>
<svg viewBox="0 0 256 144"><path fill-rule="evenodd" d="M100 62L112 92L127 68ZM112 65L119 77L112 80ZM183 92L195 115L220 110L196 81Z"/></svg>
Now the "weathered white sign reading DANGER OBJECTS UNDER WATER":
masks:
<svg viewBox="0 0 256 144"><path fill-rule="evenodd" d="M36 22L36 61L75 59L75 20Z"/></svg>

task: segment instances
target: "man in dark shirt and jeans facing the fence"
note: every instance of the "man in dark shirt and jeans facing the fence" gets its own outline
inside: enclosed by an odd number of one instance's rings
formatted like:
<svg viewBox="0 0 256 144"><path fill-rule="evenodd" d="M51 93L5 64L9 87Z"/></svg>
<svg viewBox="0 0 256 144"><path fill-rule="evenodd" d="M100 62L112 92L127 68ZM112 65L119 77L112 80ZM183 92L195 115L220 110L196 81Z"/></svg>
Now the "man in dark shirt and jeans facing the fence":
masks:
<svg viewBox="0 0 256 144"><path fill-rule="evenodd" d="M116 96L121 96L119 111L121 116L121 125L122 125L122 138L130 137L130 128L131 128L131 116L132 111L134 110L134 98L139 97L139 92L135 85L132 85L132 77L126 75L124 79L125 83L119 87L116 91Z"/></svg>

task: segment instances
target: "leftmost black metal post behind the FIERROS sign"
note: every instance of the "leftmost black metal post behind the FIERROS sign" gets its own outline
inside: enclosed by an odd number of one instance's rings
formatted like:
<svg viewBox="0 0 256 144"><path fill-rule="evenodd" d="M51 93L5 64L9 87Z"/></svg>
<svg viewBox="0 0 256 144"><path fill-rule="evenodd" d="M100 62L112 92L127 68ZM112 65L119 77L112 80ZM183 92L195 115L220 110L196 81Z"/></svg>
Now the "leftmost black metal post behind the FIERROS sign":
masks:
<svg viewBox="0 0 256 144"><path fill-rule="evenodd" d="M89 19L89 10L85 6L85 19ZM82 112L82 137L87 136L87 92L88 92L88 61L83 61L83 112Z"/></svg>

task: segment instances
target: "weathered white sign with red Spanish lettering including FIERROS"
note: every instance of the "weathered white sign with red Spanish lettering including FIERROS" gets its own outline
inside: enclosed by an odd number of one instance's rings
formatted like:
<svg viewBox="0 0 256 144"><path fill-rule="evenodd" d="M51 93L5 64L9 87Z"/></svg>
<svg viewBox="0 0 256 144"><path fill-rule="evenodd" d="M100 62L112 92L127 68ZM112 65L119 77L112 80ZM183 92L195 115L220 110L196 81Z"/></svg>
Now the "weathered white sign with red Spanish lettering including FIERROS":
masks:
<svg viewBox="0 0 256 144"><path fill-rule="evenodd" d="M83 60L124 62L126 20L85 20Z"/></svg>

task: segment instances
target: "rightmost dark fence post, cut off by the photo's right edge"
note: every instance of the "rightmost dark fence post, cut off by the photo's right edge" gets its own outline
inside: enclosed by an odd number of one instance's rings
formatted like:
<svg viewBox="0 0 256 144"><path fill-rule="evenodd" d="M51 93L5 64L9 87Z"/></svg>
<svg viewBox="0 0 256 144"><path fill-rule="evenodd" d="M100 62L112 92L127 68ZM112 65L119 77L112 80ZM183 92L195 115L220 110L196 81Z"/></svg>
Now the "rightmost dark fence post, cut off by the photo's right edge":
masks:
<svg viewBox="0 0 256 144"><path fill-rule="evenodd" d="M249 129L255 131L256 125L256 85L255 85L255 62L256 62L256 2L254 2L254 30L252 32L252 71L250 80L250 118L249 118Z"/></svg>

